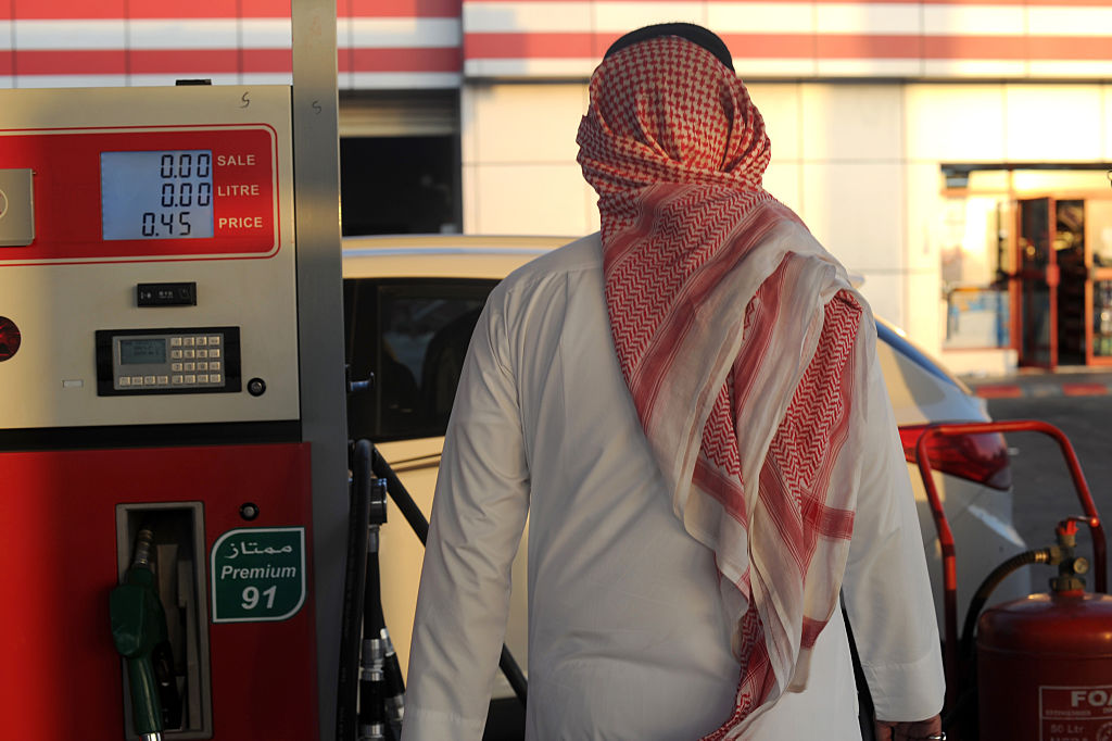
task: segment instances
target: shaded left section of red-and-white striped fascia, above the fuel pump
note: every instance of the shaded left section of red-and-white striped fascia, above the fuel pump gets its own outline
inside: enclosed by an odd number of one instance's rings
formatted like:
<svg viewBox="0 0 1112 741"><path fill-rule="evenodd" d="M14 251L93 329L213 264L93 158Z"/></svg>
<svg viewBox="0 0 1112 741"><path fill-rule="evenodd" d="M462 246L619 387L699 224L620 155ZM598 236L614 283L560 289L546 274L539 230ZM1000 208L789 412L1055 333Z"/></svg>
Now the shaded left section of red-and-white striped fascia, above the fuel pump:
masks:
<svg viewBox="0 0 1112 741"><path fill-rule="evenodd" d="M459 0L338 0L341 88L459 87ZM0 87L288 83L289 0L0 0Z"/></svg>

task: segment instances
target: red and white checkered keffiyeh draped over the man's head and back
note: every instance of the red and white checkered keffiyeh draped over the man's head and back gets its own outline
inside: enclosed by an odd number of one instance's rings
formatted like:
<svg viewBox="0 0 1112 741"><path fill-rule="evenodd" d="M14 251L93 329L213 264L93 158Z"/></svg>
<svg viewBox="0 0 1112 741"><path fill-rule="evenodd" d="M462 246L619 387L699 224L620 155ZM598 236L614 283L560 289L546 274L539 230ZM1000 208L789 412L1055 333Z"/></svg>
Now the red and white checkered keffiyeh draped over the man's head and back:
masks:
<svg viewBox="0 0 1112 741"><path fill-rule="evenodd" d="M758 709L806 684L837 604L872 319L762 189L764 122L709 51L666 36L607 58L578 144L622 370L735 625L736 710L706 738L741 739Z"/></svg>

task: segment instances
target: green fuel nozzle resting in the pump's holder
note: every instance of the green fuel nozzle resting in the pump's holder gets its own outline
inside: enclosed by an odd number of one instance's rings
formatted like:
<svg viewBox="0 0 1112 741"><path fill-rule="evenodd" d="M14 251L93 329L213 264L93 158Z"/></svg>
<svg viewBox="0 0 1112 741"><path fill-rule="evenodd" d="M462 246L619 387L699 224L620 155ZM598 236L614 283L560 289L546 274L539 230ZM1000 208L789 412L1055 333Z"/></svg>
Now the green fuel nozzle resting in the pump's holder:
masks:
<svg viewBox="0 0 1112 741"><path fill-rule="evenodd" d="M152 656L166 641L167 629L150 561L153 539L149 528L139 531L135 560L108 600L112 640L127 660L135 730L143 741L162 738L162 703Z"/></svg>

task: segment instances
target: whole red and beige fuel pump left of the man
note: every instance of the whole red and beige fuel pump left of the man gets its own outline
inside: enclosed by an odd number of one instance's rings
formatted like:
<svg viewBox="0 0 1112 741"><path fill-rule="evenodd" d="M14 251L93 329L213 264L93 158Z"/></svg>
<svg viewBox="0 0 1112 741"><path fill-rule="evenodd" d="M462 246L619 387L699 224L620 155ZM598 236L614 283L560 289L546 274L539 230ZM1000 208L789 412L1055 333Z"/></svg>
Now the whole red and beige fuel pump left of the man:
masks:
<svg viewBox="0 0 1112 741"><path fill-rule="evenodd" d="M315 462L346 438L338 221L331 265L295 236L296 102L0 90L0 738L332 724L342 552L317 559L346 502Z"/></svg>

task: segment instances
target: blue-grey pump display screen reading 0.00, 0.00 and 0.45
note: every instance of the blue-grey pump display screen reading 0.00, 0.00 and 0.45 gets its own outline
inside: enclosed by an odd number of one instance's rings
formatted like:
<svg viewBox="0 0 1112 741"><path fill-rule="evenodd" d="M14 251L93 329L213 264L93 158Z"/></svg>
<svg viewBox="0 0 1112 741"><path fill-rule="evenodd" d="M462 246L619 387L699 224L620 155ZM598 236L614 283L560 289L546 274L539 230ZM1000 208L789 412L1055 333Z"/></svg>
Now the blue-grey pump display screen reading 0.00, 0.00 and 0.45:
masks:
<svg viewBox="0 0 1112 741"><path fill-rule="evenodd" d="M102 151L100 204L106 241L210 238L212 151Z"/></svg>

